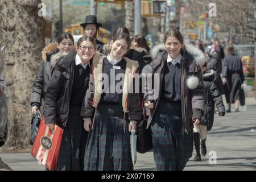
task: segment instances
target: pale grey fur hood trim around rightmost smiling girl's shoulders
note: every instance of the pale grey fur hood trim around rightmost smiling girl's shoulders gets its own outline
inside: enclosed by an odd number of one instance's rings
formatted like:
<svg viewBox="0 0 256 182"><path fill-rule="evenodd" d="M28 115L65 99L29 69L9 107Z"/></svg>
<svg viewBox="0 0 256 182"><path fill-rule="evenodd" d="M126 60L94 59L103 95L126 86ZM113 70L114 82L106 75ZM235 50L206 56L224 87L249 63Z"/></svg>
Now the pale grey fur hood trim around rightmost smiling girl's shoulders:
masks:
<svg viewBox="0 0 256 182"><path fill-rule="evenodd" d="M205 55L204 53L197 48L196 46L193 46L190 43L185 43L185 48L187 50L188 53L190 53L194 59L196 60L196 63L201 65L204 65L205 63ZM156 55L158 55L159 52L163 52L165 51L165 47L163 43L159 43L156 44L156 46L152 47L151 51L150 51L150 55L152 57L152 59L154 59L156 57Z"/></svg>

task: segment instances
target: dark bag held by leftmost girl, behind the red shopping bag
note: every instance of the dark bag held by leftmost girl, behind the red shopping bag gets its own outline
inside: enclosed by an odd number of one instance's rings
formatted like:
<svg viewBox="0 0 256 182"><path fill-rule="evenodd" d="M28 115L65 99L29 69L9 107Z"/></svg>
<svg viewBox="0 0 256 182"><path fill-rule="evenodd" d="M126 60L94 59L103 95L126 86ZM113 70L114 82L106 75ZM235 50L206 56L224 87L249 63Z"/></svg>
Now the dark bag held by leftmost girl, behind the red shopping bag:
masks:
<svg viewBox="0 0 256 182"><path fill-rule="evenodd" d="M36 114L32 115L31 119L31 135L30 135L30 144L35 142L36 134L38 134L38 128L40 125L40 121L42 119L42 114L40 113L39 109L36 110Z"/></svg>

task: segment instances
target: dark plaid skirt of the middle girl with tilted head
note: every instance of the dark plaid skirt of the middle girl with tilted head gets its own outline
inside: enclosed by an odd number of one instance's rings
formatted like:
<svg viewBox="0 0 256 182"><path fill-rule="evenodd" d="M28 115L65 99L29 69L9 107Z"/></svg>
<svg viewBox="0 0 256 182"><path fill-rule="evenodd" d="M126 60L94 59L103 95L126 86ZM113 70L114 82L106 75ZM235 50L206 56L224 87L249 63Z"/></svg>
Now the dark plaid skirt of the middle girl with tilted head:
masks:
<svg viewBox="0 0 256 182"><path fill-rule="evenodd" d="M99 104L94 117L85 148L85 171L133 170L128 119L124 134L122 106Z"/></svg>

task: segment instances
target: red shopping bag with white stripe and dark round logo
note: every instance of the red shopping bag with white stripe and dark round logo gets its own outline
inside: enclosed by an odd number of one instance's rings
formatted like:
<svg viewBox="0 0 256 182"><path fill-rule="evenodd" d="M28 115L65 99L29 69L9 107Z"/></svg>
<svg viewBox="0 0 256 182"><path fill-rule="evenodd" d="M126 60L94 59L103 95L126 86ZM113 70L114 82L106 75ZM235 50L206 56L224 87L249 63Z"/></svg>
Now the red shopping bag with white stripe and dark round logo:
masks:
<svg viewBox="0 0 256 182"><path fill-rule="evenodd" d="M49 129L42 117L30 154L49 170L57 168L62 135L63 129L57 125L53 130Z"/></svg>

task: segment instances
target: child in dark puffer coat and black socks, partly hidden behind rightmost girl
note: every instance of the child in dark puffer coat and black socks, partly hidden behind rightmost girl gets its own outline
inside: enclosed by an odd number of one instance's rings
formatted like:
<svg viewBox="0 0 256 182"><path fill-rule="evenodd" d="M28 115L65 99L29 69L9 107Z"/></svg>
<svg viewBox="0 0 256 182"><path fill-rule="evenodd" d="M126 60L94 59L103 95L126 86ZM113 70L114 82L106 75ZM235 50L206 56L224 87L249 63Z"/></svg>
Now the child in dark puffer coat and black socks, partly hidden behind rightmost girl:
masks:
<svg viewBox="0 0 256 182"><path fill-rule="evenodd" d="M194 125L194 143L196 148L196 156L193 161L200 161L200 139L201 139L201 154L205 156L207 154L207 148L205 141L207 139L207 130L212 129L214 120L214 104L218 109L220 116L225 115L225 107L222 101L221 94L218 92L217 86L214 83L214 71L207 69L207 63L200 65L201 71L203 72L203 80L205 86L205 106L204 115L201 118L200 125Z"/></svg>

